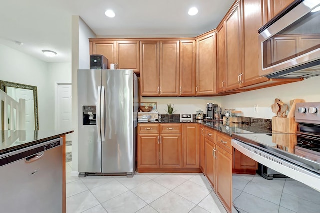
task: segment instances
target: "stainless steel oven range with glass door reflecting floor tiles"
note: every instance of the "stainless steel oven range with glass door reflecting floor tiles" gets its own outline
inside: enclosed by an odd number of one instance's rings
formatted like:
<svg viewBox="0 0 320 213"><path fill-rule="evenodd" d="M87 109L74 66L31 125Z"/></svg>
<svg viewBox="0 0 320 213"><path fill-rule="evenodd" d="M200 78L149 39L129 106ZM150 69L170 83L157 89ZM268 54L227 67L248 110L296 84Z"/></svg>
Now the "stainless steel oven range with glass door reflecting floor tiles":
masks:
<svg viewBox="0 0 320 213"><path fill-rule="evenodd" d="M232 175L232 212L319 212L320 209L320 102L298 103L295 134L237 133L232 146L272 169ZM261 171L263 172L263 171Z"/></svg>

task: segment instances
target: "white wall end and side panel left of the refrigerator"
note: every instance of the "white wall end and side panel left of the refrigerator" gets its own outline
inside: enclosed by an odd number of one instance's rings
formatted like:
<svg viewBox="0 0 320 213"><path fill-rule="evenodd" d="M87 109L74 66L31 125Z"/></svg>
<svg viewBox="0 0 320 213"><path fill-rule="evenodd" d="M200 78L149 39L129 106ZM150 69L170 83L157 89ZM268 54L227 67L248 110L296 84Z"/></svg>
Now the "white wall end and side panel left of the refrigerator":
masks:
<svg viewBox="0 0 320 213"><path fill-rule="evenodd" d="M86 23L76 15L72 16L72 175L78 172L78 99L77 70L90 68L89 38L96 37Z"/></svg>

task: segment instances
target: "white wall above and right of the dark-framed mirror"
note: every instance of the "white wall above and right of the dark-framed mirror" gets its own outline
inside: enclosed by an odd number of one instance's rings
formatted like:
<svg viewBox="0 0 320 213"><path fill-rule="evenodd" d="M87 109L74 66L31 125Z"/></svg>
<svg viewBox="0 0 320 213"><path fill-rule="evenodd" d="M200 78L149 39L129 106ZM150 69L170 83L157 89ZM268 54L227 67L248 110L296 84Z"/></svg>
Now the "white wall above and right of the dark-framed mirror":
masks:
<svg viewBox="0 0 320 213"><path fill-rule="evenodd" d="M37 86L39 129L54 129L54 81L70 75L70 63L46 63L0 44L0 80ZM70 77L69 77L70 79Z"/></svg>

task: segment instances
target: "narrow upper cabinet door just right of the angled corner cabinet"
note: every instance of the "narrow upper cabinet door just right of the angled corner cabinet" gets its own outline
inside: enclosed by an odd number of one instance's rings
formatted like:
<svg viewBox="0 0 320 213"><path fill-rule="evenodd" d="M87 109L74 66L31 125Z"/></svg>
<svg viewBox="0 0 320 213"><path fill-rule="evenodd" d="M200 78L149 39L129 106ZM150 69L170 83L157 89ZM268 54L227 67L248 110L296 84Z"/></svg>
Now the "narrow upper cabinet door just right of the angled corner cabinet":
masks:
<svg viewBox="0 0 320 213"><path fill-rule="evenodd" d="M216 91L225 91L225 27L224 22L218 28L216 33L217 39L217 79Z"/></svg>

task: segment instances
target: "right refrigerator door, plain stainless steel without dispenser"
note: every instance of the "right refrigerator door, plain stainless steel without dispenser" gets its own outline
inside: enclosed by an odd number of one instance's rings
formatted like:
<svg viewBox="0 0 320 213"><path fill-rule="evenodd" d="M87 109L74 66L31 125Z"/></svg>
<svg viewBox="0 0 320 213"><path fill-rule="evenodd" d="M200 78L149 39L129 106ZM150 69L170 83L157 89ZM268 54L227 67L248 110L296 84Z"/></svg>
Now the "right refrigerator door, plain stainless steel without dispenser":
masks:
<svg viewBox="0 0 320 213"><path fill-rule="evenodd" d="M135 169L134 79L133 70L102 70L105 88L101 112L102 172L129 173Z"/></svg>

